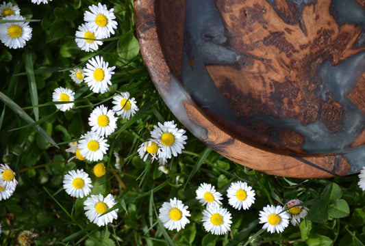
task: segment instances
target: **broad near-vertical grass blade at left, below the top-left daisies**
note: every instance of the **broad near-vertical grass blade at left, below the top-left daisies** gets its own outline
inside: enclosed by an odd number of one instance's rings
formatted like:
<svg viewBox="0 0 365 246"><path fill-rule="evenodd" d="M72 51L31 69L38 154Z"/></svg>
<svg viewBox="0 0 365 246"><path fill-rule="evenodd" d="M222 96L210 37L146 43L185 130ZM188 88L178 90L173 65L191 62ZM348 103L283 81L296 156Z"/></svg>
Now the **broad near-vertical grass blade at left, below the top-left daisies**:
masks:
<svg viewBox="0 0 365 246"><path fill-rule="evenodd" d="M31 51L27 50L24 53L24 65L25 72L27 73L28 83L29 83L29 92L30 98L32 100L32 105L38 105L38 92L37 92L37 83L36 77L34 77L34 68L33 68L33 57ZM39 109L38 107L33 108L34 118L39 120Z"/></svg>

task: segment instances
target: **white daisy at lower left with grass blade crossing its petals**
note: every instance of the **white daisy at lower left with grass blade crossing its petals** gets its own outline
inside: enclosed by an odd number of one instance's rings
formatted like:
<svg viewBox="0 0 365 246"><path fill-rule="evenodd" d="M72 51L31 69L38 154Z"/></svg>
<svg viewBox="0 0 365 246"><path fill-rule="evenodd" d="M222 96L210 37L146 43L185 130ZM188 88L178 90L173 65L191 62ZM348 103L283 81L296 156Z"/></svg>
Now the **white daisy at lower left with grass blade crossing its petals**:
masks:
<svg viewBox="0 0 365 246"><path fill-rule="evenodd" d="M118 208L105 213L116 204L112 194L103 197L103 195L90 195L84 202L84 210L87 210L85 215L92 223L96 223L98 226L105 226L111 223L113 219L116 219L118 215Z"/></svg>

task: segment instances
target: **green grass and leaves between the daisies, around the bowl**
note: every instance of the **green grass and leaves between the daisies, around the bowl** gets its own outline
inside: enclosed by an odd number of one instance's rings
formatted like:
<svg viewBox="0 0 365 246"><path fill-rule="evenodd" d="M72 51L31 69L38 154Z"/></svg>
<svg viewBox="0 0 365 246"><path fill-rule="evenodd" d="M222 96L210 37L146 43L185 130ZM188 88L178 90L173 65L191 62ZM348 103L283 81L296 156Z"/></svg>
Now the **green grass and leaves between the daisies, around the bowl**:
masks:
<svg viewBox="0 0 365 246"><path fill-rule="evenodd" d="M12 197L0 201L0 245L16 245L27 231L34 234L34 245L364 245L365 199L356 175L305 180L262 174L225 159L190 133L182 154L168 161L168 174L158 170L156 161L140 159L138 146L149 139L153 126L177 119L153 87L142 61L133 1L103 1L114 8L118 29L93 53L81 51L74 36L84 23L84 11L97 1L16 2L23 16L40 21L29 24L32 40L23 49L0 44L1 163L12 167L19 182ZM77 85L69 76L70 70L95 55L116 66L113 85L105 94L94 94L86 83ZM75 107L66 112L52 102L53 90L60 86L75 92ZM73 154L65 150L90 130L88 117L95 106L112 107L116 92L129 92L140 110L130 120L118 120L103 159L107 174L96 178L96 162L69 161ZM120 170L114 151L121 156ZM62 187L64 175L72 169L88 172L93 194L114 195L118 219L100 228L88 221L85 198L74 199ZM237 180L255 189L255 204L249 210L234 210L228 204L227 188ZM204 208L195 199L203 182L223 193L223 206L232 214L231 232L223 236L203 228ZM158 219L162 204L173 197L191 214L190 223L179 232L166 230ZM294 198L310 208L307 219L299 226L290 224L281 234L262 230L260 210Z"/></svg>

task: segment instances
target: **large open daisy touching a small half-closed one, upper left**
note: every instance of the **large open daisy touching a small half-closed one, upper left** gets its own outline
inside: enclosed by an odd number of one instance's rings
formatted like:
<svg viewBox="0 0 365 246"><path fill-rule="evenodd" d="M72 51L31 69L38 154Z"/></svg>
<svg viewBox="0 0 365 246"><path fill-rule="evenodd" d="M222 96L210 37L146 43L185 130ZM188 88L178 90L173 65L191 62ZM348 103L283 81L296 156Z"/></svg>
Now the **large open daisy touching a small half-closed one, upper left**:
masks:
<svg viewBox="0 0 365 246"><path fill-rule="evenodd" d="M115 66L109 68L109 63L103 60L103 57L92 57L88 60L85 73L85 82L88 83L90 90L95 93L105 93L108 91L108 85L112 85L112 74Z"/></svg>

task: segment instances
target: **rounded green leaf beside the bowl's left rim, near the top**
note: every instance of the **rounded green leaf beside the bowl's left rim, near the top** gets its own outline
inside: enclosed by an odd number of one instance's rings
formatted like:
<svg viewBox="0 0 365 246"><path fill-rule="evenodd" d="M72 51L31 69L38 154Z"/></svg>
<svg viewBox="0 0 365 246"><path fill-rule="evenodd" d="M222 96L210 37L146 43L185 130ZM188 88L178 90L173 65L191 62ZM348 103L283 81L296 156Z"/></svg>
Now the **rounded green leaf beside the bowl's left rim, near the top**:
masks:
<svg viewBox="0 0 365 246"><path fill-rule="evenodd" d="M138 55L140 52L140 46L138 40L132 33L127 33L125 36L121 36L117 44L118 55L125 61L130 61Z"/></svg>

